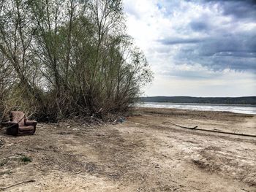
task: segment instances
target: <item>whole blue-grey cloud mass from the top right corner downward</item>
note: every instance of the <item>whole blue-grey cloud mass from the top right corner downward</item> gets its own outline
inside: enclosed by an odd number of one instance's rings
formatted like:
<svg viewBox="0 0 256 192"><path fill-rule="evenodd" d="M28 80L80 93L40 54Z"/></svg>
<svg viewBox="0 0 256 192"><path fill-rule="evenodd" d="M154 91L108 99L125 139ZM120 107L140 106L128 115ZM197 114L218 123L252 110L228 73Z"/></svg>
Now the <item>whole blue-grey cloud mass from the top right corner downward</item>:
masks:
<svg viewBox="0 0 256 192"><path fill-rule="evenodd" d="M198 3L198 1L195 1ZM233 15L232 23L227 26L216 26L207 15L190 21L184 26L188 31L206 34L207 38L165 38L159 42L163 46L181 44L182 47L173 55L176 64L201 64L209 69L235 69L256 72L256 31L238 31L241 23L255 23L256 1L201 1L206 4L218 4L223 15Z"/></svg>

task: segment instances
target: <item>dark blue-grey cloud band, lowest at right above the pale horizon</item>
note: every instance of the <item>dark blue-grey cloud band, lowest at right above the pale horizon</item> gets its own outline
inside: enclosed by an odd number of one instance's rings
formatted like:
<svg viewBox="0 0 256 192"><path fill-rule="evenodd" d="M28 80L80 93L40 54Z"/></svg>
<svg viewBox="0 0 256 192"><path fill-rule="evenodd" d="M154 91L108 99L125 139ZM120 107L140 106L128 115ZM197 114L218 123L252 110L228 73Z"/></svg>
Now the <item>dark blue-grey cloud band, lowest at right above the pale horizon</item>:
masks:
<svg viewBox="0 0 256 192"><path fill-rule="evenodd" d="M256 32L255 32L256 33ZM256 72L255 34L226 34L181 47L176 64L201 64L209 69Z"/></svg>

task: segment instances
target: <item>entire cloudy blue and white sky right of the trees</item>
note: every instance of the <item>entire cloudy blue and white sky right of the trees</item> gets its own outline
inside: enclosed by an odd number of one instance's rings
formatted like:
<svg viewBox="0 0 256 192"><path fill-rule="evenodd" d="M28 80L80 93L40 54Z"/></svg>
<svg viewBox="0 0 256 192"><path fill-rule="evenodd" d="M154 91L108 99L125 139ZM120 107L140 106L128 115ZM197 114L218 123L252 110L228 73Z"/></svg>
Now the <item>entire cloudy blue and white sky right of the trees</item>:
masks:
<svg viewBox="0 0 256 192"><path fill-rule="evenodd" d="M256 1L124 0L154 81L143 96L256 96Z"/></svg>

